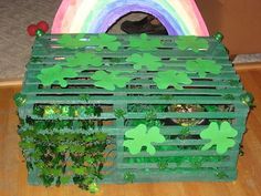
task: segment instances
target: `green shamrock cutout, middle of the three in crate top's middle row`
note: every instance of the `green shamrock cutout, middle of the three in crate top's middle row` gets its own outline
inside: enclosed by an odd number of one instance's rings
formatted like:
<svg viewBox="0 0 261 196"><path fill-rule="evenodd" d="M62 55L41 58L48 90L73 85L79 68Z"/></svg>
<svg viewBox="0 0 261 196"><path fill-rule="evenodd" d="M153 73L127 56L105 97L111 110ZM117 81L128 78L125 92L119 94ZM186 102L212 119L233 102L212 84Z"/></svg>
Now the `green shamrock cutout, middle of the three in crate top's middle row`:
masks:
<svg viewBox="0 0 261 196"><path fill-rule="evenodd" d="M133 54L126 59L127 62L134 63L135 70L140 70L143 66L147 66L148 71L157 71L163 66L161 59L149 53Z"/></svg>

